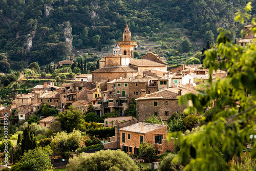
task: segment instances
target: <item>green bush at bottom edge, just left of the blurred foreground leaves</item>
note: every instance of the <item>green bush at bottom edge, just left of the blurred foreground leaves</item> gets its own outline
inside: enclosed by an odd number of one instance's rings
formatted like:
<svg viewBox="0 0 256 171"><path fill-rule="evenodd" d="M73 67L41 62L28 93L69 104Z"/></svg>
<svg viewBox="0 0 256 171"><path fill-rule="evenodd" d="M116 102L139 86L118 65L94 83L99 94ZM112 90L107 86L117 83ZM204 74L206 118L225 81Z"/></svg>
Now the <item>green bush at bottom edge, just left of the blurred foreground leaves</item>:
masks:
<svg viewBox="0 0 256 171"><path fill-rule="evenodd" d="M169 153L160 163L160 171L179 171L183 170L184 166L181 163L173 163L173 159L176 157L175 154Z"/></svg>

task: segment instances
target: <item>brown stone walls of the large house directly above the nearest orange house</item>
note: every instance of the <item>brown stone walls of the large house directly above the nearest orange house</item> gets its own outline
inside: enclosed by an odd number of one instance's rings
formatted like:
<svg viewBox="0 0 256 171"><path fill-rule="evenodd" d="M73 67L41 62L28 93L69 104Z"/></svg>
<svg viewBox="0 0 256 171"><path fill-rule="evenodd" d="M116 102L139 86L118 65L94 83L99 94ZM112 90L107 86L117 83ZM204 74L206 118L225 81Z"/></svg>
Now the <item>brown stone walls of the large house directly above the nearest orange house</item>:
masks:
<svg viewBox="0 0 256 171"><path fill-rule="evenodd" d="M162 120L167 120L176 111L183 112L186 109L186 105L180 106L178 99L153 99L153 100L137 100L137 118L139 122L144 121L147 117L154 116L157 112L157 116ZM157 101L157 106L154 106L154 102ZM166 113L167 112L167 115Z"/></svg>

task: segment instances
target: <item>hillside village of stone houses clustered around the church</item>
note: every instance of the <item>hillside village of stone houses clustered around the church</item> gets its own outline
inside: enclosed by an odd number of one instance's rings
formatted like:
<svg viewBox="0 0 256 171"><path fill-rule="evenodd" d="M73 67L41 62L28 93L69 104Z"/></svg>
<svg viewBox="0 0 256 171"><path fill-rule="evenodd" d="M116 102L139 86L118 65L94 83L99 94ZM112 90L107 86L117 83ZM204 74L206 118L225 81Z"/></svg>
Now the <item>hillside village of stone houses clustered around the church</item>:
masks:
<svg viewBox="0 0 256 171"><path fill-rule="evenodd" d="M252 25L244 27L249 34L240 39L238 45L246 47L252 42L254 36L248 30L250 27ZM134 59L137 43L131 40L131 35L126 24L123 41L117 42L113 54L99 60L99 69L91 74L76 75L74 81L63 82L60 87L55 86L53 81L38 84L31 93L16 95L11 106L1 105L1 122L4 122L4 113L7 112L8 117L18 116L17 123L23 124L46 104L58 113L76 110L84 116L89 111L93 111L98 117L118 112L119 116L103 119L104 127L115 127L114 135L106 137L109 141L103 143L104 149L121 149L130 155L138 155L140 144L150 143L157 155L174 152L174 138L167 141L165 122L187 108L185 104L178 102L179 97L188 93L197 95L198 84L206 83L209 79L224 79L227 72L218 69L210 75L209 69L194 63L167 70L167 63L152 52ZM59 61L59 66L67 67L72 63L73 60L66 59ZM131 104L136 106L136 113L133 115L127 112L131 109ZM188 105L193 105L191 100ZM147 118L151 117L162 123L147 123ZM41 117L39 125L50 128L56 118ZM156 164L158 166L159 163Z"/></svg>

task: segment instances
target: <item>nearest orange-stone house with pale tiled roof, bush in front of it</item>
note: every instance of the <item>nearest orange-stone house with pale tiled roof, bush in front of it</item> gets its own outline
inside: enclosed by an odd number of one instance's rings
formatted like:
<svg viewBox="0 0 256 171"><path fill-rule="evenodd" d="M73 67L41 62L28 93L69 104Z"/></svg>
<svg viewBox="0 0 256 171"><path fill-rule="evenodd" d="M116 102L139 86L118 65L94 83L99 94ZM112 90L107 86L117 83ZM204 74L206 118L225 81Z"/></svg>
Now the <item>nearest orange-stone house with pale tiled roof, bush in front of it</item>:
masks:
<svg viewBox="0 0 256 171"><path fill-rule="evenodd" d="M167 143L167 125L138 122L119 129L120 147L123 152L138 155L141 143L150 143L157 154L174 151L173 141Z"/></svg>

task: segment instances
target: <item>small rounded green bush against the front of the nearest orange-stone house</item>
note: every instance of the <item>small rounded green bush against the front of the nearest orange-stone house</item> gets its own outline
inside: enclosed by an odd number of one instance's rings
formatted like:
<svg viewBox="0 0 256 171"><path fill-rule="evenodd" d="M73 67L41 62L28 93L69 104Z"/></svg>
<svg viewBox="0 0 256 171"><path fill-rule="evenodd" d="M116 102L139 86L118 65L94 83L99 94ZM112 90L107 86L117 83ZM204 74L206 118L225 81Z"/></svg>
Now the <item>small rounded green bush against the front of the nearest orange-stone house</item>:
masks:
<svg viewBox="0 0 256 171"><path fill-rule="evenodd" d="M150 143L141 143L139 147L139 156L147 162L152 162L157 154L153 145Z"/></svg>

